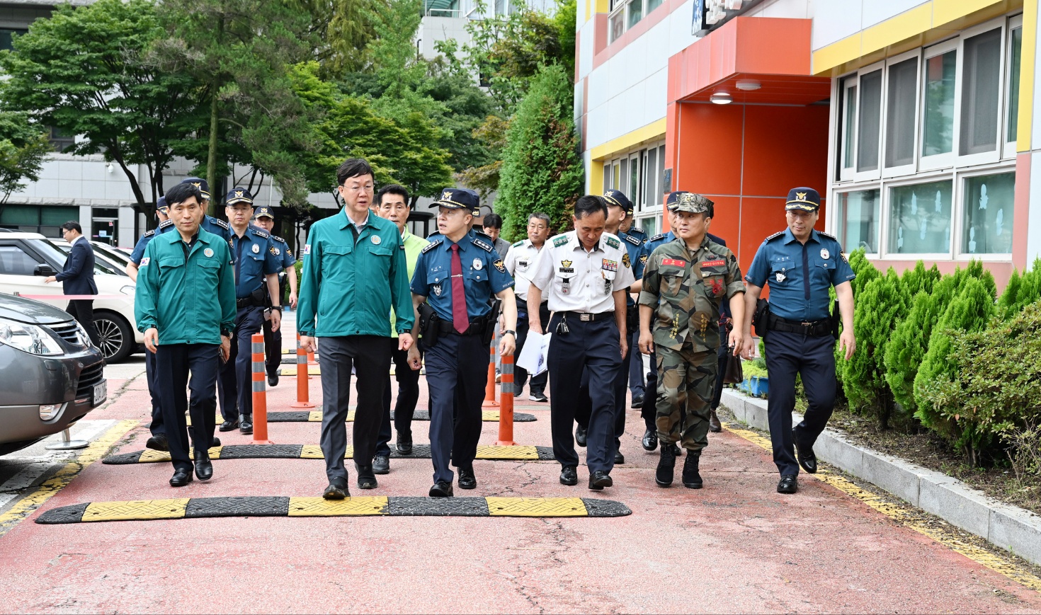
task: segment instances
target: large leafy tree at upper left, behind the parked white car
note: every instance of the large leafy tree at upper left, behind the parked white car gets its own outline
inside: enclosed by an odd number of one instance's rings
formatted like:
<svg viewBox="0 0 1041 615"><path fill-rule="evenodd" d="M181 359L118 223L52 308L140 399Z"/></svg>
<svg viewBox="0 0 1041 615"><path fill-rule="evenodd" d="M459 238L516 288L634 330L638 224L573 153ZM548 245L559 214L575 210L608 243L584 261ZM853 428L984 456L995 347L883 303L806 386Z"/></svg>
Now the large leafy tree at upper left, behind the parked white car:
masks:
<svg viewBox="0 0 1041 615"><path fill-rule="evenodd" d="M161 35L148 0L59 4L0 56L9 77L0 99L39 125L82 135L70 151L103 154L126 175L139 205L155 203L173 144L199 120L191 77L149 61ZM138 164L147 177L137 177Z"/></svg>

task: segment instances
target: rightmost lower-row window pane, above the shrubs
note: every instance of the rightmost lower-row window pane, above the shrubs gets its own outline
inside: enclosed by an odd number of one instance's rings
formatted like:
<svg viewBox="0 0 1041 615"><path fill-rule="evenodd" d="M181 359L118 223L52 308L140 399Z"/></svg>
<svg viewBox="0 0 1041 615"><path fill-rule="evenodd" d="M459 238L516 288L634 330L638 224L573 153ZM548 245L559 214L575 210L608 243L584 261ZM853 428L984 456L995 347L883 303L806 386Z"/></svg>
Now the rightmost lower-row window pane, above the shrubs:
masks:
<svg viewBox="0 0 1041 615"><path fill-rule="evenodd" d="M965 178L963 254L1012 254L1015 190L1015 173Z"/></svg>

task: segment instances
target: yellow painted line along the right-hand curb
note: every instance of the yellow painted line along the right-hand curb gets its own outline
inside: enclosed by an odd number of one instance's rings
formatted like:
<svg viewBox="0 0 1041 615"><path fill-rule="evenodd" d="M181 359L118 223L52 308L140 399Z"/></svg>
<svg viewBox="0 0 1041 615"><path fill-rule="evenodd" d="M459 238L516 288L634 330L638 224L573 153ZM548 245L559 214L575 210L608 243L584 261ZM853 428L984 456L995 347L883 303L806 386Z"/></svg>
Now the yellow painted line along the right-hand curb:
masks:
<svg viewBox="0 0 1041 615"><path fill-rule="evenodd" d="M758 444L766 451L771 451L773 449L768 438L764 438L754 431L731 427L731 424L728 422L722 424L722 426L727 431L732 432L750 442ZM995 555L986 549L968 544L946 535L944 532L941 532L936 528L930 528L929 526L921 523L917 519L918 515L907 506L889 502L888 499L871 493L870 491L861 489L853 482L843 479L838 475L833 475L828 470L818 469L815 475L804 476L813 477L822 483L831 485L846 495L863 502L867 506L881 512L905 528L909 528L923 536L928 536L947 548L962 554L981 566L990 568L998 574L1002 574L1024 587L1041 592L1041 579L1038 576L1023 570L1009 558Z"/></svg>

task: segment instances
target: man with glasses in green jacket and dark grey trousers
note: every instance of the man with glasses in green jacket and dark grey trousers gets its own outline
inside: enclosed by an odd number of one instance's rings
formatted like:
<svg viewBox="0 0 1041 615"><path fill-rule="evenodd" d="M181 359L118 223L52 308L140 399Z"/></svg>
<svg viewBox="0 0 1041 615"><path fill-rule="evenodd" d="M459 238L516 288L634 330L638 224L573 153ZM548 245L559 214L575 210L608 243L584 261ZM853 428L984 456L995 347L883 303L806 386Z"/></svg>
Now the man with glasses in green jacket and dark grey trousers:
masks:
<svg viewBox="0 0 1041 615"><path fill-rule="evenodd" d="M326 499L350 495L347 450L351 368L358 377L354 415L354 466L358 487L377 486L373 458L383 411L383 386L395 348L412 347L415 310L408 287L405 248L398 227L373 214L373 169L351 158L336 170L344 210L311 226L302 256L297 328L301 344L322 354L322 453ZM393 308L398 343L387 328ZM321 338L321 349L316 342Z"/></svg>

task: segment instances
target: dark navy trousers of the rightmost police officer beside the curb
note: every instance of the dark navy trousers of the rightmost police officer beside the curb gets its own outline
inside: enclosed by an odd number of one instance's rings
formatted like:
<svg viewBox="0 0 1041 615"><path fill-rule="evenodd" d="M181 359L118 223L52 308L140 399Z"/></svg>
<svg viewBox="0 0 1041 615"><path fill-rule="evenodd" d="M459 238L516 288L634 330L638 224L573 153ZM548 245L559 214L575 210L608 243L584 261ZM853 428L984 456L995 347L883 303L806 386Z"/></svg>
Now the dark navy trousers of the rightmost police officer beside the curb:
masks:
<svg viewBox="0 0 1041 615"><path fill-rule="evenodd" d="M764 340L770 394L766 416L773 444L773 463L782 476L797 475L794 439L812 446L824 431L835 409L835 338L809 337L802 333L770 331ZM795 409L795 375L803 377L807 409L792 434L791 411Z"/></svg>

